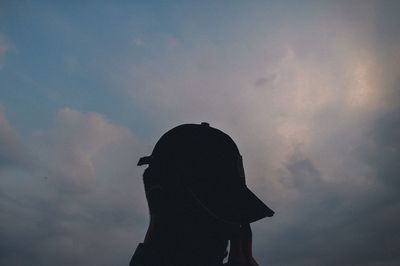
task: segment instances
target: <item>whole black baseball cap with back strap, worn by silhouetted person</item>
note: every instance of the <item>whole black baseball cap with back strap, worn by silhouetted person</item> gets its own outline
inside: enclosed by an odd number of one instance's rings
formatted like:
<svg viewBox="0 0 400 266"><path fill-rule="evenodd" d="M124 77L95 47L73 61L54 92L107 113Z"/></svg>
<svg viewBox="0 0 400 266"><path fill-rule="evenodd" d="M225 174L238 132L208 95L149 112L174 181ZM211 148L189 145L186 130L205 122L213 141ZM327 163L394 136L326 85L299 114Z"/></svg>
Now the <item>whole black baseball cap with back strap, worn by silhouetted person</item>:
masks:
<svg viewBox="0 0 400 266"><path fill-rule="evenodd" d="M274 215L247 187L235 142L208 123L183 124L169 130L138 165L173 169L177 180L164 183L183 186L222 221L244 224Z"/></svg>

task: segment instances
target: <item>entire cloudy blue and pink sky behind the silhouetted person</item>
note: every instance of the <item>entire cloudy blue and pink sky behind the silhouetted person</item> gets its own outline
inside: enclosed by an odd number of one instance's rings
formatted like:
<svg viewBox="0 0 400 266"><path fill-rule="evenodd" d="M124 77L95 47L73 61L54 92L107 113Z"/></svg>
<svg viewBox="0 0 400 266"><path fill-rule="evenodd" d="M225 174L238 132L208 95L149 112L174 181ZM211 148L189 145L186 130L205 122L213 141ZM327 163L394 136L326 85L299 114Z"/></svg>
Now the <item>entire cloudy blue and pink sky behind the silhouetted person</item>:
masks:
<svg viewBox="0 0 400 266"><path fill-rule="evenodd" d="M128 265L139 157L228 133L260 265L400 265L399 1L0 1L0 264Z"/></svg>

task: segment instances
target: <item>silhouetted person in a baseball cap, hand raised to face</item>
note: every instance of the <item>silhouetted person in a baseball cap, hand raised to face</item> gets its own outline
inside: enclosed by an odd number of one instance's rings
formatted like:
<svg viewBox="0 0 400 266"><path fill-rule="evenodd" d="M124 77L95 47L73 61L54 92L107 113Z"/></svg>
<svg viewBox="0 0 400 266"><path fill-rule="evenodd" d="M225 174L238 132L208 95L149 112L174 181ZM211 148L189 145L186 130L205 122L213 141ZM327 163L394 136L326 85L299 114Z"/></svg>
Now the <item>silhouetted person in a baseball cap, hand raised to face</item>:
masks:
<svg viewBox="0 0 400 266"><path fill-rule="evenodd" d="M138 165L150 225L130 266L256 266L250 223L274 212L246 186L233 140L207 123L165 133Z"/></svg>

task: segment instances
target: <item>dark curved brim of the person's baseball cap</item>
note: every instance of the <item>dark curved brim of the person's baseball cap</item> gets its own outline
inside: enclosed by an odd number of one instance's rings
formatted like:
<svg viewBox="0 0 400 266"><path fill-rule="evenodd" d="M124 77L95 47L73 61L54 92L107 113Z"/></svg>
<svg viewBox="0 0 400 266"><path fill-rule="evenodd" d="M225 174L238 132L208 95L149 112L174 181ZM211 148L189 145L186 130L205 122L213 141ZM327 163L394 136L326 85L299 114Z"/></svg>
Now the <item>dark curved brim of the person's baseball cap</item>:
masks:
<svg viewBox="0 0 400 266"><path fill-rule="evenodd" d="M224 187L222 191L217 187L208 186L204 190L196 186L189 190L211 215L228 223L252 223L275 213L246 186Z"/></svg>

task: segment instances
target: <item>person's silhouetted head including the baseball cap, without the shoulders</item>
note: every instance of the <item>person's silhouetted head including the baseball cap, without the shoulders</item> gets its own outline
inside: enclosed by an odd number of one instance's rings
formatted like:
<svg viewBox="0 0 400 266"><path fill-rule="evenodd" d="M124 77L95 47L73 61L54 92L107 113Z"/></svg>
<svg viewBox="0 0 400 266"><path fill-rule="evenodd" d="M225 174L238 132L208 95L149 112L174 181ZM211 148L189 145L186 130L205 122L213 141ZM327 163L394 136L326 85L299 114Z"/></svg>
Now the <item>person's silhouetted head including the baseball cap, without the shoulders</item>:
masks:
<svg viewBox="0 0 400 266"><path fill-rule="evenodd" d="M247 188L234 141L207 123L171 129L143 164L151 222L164 240L223 256L241 225L274 213Z"/></svg>

